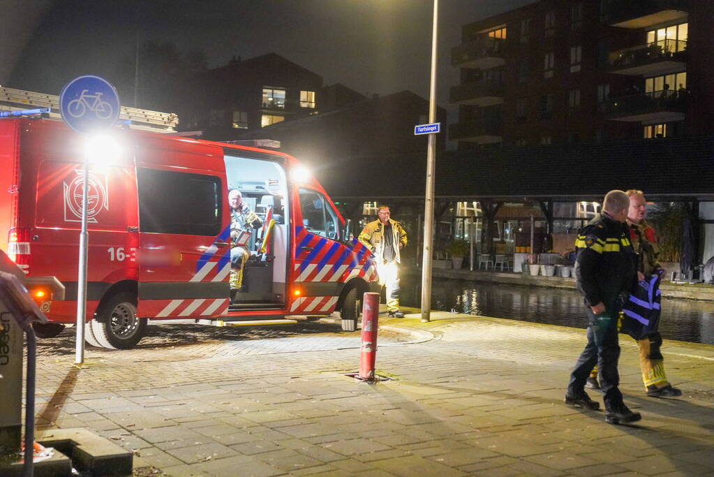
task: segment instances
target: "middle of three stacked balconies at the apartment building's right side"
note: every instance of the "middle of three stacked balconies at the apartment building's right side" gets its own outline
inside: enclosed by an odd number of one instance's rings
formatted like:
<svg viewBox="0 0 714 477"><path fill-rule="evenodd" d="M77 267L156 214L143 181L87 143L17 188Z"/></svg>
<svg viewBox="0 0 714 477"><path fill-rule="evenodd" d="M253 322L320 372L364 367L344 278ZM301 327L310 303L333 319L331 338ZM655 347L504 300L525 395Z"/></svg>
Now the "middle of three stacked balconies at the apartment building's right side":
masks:
<svg viewBox="0 0 714 477"><path fill-rule="evenodd" d="M687 42L662 40L612 51L610 73L633 76L660 76L687 69Z"/></svg>

